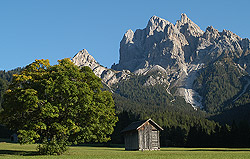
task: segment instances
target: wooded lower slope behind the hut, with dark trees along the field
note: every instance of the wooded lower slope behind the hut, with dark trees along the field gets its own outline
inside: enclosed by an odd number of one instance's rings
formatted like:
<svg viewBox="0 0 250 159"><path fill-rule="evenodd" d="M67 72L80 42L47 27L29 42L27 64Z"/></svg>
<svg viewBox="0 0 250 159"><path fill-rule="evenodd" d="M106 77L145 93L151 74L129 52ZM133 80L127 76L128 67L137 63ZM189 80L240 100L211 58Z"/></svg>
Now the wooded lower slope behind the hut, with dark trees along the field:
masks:
<svg viewBox="0 0 250 159"><path fill-rule="evenodd" d="M247 142L250 128L246 120L241 120L243 118L219 123L223 117L219 120L219 117L210 117L210 113L194 110L183 98L168 94L162 85L143 86L146 79L146 76L133 76L114 85L113 97L119 121L112 143L123 143L120 131L131 122L152 118L164 128L162 146L250 146ZM215 118L218 122L212 120Z"/></svg>

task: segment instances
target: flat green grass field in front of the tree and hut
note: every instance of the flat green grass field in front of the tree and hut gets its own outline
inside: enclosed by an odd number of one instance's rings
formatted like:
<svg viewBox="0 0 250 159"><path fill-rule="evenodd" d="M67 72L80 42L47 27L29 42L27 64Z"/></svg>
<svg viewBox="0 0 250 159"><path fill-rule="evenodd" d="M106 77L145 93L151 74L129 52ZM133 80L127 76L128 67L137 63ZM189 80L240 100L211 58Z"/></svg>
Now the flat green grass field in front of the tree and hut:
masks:
<svg viewBox="0 0 250 159"><path fill-rule="evenodd" d="M249 159L250 148L162 148L160 151L125 151L124 148L72 146L61 156L41 156L36 145L0 143L0 158L83 159Z"/></svg>

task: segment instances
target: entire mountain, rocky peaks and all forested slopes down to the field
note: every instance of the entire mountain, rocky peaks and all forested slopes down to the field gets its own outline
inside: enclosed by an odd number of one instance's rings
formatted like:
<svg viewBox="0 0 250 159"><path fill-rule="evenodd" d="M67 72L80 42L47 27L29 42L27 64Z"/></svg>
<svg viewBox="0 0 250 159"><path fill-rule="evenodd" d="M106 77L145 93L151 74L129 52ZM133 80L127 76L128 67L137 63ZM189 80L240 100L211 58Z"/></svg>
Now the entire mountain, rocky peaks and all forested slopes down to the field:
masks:
<svg viewBox="0 0 250 159"><path fill-rule="evenodd" d="M152 118L164 128L162 146L249 147L249 44L228 30L203 31L186 14L176 24L153 16L146 28L124 34L111 69L86 49L72 61L89 66L113 93L119 121L112 143L124 142L120 132L131 122ZM0 102L20 71L0 71ZM10 135L0 129L0 137Z"/></svg>

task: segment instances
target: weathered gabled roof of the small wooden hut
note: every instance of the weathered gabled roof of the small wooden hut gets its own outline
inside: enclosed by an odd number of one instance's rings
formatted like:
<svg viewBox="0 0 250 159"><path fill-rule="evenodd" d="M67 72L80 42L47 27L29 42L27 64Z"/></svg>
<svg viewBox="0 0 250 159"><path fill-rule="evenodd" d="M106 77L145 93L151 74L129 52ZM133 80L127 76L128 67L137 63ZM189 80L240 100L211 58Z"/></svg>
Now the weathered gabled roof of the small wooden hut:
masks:
<svg viewBox="0 0 250 159"><path fill-rule="evenodd" d="M160 127L158 124L156 124L152 119L148 120L142 120L142 121L136 121L128 125L126 128L124 128L121 132L127 132L127 131L132 131L132 130L138 130L140 129L146 122L149 122L152 124L156 129L158 130L163 130L162 127Z"/></svg>

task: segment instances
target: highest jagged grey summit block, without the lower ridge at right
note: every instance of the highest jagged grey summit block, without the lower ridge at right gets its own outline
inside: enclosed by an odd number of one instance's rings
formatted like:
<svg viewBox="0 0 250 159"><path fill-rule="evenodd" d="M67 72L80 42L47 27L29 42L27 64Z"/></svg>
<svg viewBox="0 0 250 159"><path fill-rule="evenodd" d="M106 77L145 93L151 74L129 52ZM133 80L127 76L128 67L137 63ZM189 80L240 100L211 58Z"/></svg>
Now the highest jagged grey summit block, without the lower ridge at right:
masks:
<svg viewBox="0 0 250 159"><path fill-rule="evenodd" d="M184 52L194 50L193 43L202 34L203 31L186 14L182 14L175 25L152 16L145 29L125 33L120 43L119 64L112 68L134 72L156 64L168 68L178 62L176 66L185 69ZM190 51L187 56L191 56Z"/></svg>

